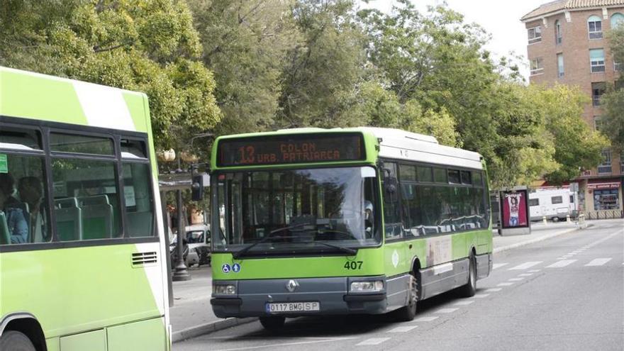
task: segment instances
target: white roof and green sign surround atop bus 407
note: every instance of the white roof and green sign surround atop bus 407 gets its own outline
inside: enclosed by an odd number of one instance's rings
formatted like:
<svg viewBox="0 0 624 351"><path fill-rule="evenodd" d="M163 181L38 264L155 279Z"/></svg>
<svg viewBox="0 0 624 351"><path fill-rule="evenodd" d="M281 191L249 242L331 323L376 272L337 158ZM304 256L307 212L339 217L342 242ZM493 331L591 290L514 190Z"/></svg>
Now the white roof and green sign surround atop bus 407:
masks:
<svg viewBox="0 0 624 351"><path fill-rule="evenodd" d="M477 152L440 145L438 140L430 135L411 133L405 130L392 128L291 128L272 132L245 133L235 135L224 135L216 140L216 145L220 140L252 138L270 135L305 135L305 134L328 134L328 133L362 133L367 150L374 150L374 146L379 145L379 150L373 155L367 155L367 162L375 162L377 157L384 157L396 160L410 160L414 162L430 163L435 165L452 165L472 169L483 169L482 157ZM374 145L371 145L373 144ZM368 152L368 151L367 151ZM213 150L213 169L216 167L216 148ZM352 162L350 162L352 163ZM280 167L293 167L292 164L279 165ZM239 166L243 167L243 166ZM249 166L249 167L257 167Z"/></svg>

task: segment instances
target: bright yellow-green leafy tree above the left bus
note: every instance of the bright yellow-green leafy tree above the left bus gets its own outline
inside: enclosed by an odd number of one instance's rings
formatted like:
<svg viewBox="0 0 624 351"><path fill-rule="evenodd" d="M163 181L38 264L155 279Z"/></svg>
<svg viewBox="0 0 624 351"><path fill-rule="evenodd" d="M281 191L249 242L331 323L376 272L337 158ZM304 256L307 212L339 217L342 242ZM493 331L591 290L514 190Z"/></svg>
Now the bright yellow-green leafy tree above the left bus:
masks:
<svg viewBox="0 0 624 351"><path fill-rule="evenodd" d="M213 128L213 75L184 1L6 0L0 65L144 91L157 147Z"/></svg>

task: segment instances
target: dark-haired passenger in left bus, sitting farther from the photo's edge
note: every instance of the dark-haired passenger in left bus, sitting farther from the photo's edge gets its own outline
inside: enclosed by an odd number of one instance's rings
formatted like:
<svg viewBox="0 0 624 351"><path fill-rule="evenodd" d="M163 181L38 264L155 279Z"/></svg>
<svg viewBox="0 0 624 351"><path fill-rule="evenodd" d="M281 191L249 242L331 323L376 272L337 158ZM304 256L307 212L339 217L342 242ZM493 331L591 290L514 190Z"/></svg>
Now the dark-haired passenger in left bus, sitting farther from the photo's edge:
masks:
<svg viewBox="0 0 624 351"><path fill-rule="evenodd" d="M45 241L43 234L45 230L45 218L42 208L43 186L37 177L22 177L17 186L21 201L28 204L30 211L30 240L34 243Z"/></svg>

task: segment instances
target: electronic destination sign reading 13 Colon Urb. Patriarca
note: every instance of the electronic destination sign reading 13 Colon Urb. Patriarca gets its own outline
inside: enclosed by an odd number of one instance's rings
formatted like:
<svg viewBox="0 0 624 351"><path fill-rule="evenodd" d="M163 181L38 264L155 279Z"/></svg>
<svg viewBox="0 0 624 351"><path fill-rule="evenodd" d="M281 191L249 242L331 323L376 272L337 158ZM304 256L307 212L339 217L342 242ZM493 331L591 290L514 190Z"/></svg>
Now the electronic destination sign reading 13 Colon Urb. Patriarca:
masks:
<svg viewBox="0 0 624 351"><path fill-rule="evenodd" d="M274 135L221 140L217 165L277 165L365 158L361 134Z"/></svg>

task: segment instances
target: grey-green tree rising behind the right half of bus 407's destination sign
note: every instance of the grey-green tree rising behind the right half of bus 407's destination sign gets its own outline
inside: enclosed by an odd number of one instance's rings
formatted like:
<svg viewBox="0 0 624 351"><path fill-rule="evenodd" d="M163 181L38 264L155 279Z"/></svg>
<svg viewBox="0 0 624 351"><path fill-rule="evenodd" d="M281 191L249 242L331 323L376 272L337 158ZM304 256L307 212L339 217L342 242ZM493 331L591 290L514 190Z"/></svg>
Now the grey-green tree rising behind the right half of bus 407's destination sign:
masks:
<svg viewBox="0 0 624 351"><path fill-rule="evenodd" d="M345 127L345 108L362 83L363 39L352 1L299 0L292 7L301 42L291 48L282 69L277 127ZM354 116L354 115L350 115Z"/></svg>

